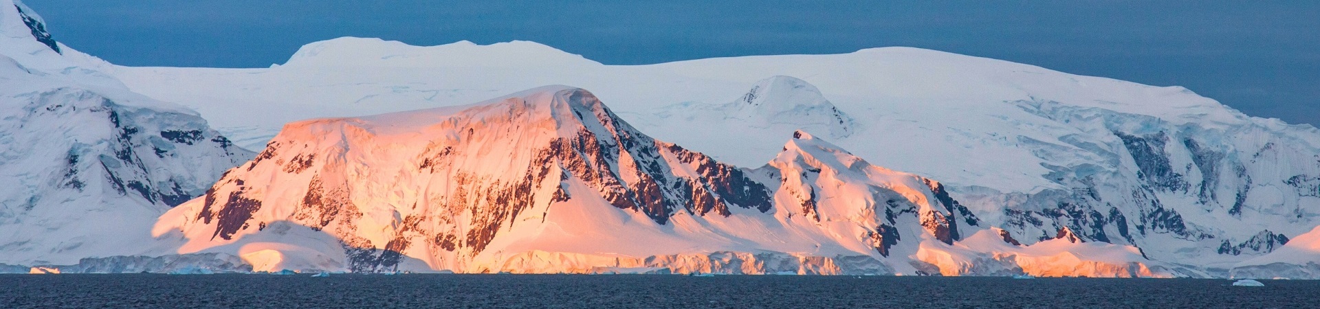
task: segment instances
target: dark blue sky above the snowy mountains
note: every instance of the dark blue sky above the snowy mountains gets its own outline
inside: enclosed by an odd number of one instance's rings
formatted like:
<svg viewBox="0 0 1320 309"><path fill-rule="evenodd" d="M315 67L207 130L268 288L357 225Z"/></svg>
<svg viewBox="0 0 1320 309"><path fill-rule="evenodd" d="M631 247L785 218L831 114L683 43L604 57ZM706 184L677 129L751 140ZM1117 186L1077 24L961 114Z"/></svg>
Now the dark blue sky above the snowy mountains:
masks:
<svg viewBox="0 0 1320 309"><path fill-rule="evenodd" d="M543 42L610 65L915 46L1156 86L1320 124L1320 1L25 0L129 66L265 67L334 37Z"/></svg>

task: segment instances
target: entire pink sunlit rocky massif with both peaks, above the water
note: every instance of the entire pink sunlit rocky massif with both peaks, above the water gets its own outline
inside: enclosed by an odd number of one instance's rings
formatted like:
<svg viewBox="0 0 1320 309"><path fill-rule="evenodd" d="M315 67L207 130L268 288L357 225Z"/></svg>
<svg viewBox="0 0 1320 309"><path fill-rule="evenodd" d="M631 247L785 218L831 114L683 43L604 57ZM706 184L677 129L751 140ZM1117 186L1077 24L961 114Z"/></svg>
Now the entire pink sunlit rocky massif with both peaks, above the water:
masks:
<svg viewBox="0 0 1320 309"><path fill-rule="evenodd" d="M272 222L334 238L272 231ZM550 86L462 107L290 123L154 231L185 240L180 254L253 265L342 259L294 269L1039 273L1012 256L1044 243L974 251L960 239L978 224L939 182L873 166L807 132L793 132L768 165L738 169L638 132L585 90ZM243 252L253 246L260 251ZM923 252L941 258L921 261ZM1104 269L1053 275L1172 275L1150 271L1140 255L1069 256ZM977 259L995 263L957 268Z"/></svg>

